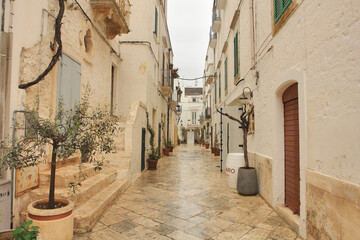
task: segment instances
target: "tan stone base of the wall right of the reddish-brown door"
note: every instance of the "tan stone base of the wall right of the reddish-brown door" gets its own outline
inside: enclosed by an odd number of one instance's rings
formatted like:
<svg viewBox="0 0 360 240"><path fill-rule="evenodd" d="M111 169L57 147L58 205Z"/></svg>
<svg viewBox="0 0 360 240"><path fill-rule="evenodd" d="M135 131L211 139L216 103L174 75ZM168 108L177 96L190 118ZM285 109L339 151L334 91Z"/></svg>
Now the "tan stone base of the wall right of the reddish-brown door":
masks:
<svg viewBox="0 0 360 240"><path fill-rule="evenodd" d="M359 239L360 186L306 172L307 239Z"/></svg>

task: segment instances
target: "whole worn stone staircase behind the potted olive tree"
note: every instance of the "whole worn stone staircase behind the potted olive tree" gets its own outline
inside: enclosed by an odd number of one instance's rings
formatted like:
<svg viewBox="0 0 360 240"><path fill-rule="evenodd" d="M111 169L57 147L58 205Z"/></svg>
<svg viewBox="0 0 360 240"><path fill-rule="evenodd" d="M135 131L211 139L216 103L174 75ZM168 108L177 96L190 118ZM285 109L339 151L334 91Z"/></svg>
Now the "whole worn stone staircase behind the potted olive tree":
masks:
<svg viewBox="0 0 360 240"><path fill-rule="evenodd" d="M125 127L125 122L120 126ZM80 157L57 163L55 198L70 199L75 204L74 231L90 231L102 214L129 186L131 153L125 151L125 131L116 139L117 153L104 155L102 171L94 171L93 163L80 164ZM81 182L73 193L70 182ZM31 192L31 199L48 198L50 169L40 172L40 187Z"/></svg>

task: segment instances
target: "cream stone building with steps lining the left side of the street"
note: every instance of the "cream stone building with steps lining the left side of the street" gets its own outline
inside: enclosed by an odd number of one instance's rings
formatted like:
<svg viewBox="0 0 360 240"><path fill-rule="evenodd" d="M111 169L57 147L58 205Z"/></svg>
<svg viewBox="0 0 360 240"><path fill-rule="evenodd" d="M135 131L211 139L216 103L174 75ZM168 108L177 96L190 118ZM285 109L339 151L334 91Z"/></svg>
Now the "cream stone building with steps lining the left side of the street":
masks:
<svg viewBox="0 0 360 240"><path fill-rule="evenodd" d="M165 124L169 140L174 142L177 135L176 99L170 97L173 83L169 64L173 53L167 30L166 1L65 1L62 56L44 80L26 89L20 89L19 84L33 81L56 52L54 21L59 0L5 0L3 3L0 140L12 136L9 129L13 125L13 116L16 115L16 123L21 126L23 104L37 104L35 107L40 116L47 117L49 109L55 109L61 96L65 107L70 108L83 95L86 84L92 90L91 106L109 106L124 129L116 139L117 153L106 157L104 179L99 180L99 175L92 178L93 174L90 174L87 181L91 187L81 190L79 197L73 199L75 231L89 231L109 207L111 199L121 194L146 169L146 149L149 147L146 112L156 130L157 145L162 145L165 140L158 132L161 122ZM59 196L69 197L65 193L66 183L78 174L75 165L78 161L79 156L74 156L59 163L57 178L64 183L56 189ZM49 158L45 163L26 168L24 173L14 172L13 177L11 171L1 172L1 190L7 188L9 182L12 182L9 186L13 186L10 195L14 197L4 208L12 210L14 226L19 223L21 212L29 202L47 195L48 174ZM94 201L97 208L92 207ZM0 230L9 228L10 212L1 215Z"/></svg>

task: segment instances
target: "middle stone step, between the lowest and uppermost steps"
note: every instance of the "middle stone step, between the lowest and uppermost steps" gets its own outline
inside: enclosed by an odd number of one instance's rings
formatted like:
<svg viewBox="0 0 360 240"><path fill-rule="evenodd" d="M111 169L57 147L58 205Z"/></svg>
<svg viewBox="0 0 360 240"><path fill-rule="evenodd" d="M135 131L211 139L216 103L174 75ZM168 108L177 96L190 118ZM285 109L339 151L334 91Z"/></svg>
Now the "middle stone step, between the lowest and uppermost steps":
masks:
<svg viewBox="0 0 360 240"><path fill-rule="evenodd" d="M104 170L100 173L86 178L81 182L81 186L76 188L76 192L71 192L69 188L55 188L55 198L65 198L74 202L75 206L81 206L89 198L109 186L117 179L116 170ZM46 199L48 198L48 187L41 187L31 191L31 198Z"/></svg>

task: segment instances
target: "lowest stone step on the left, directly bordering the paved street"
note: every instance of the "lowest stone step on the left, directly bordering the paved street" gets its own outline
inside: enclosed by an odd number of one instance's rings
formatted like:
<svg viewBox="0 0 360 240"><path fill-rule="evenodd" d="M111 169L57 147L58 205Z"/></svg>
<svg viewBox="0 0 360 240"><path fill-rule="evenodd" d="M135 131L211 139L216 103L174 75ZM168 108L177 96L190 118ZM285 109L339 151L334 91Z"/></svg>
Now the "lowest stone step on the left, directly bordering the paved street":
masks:
<svg viewBox="0 0 360 240"><path fill-rule="evenodd" d="M74 232L85 233L91 231L103 213L129 186L129 181L116 180L107 188L93 196L85 204L74 211Z"/></svg>

